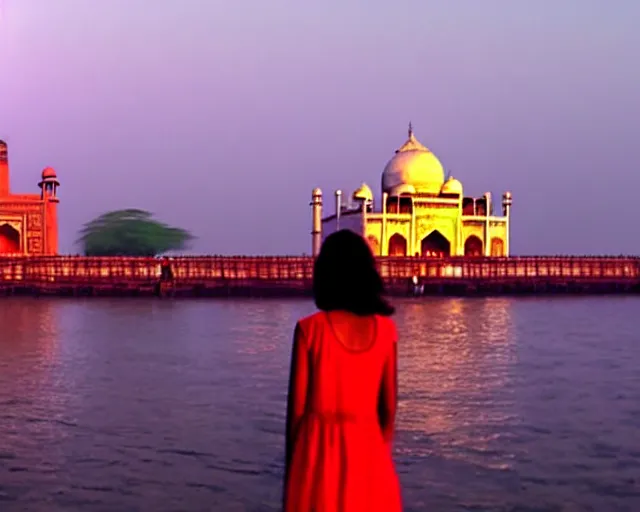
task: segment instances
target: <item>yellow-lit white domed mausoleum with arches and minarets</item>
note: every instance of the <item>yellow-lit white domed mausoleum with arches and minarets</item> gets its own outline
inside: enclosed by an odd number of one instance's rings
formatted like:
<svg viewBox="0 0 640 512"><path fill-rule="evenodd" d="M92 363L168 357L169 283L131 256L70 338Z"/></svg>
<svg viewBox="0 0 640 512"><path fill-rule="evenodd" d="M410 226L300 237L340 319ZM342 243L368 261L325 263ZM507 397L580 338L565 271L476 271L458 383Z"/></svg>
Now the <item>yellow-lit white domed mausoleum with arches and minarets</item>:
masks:
<svg viewBox="0 0 640 512"><path fill-rule="evenodd" d="M339 229L361 234L376 256L509 256L511 193L502 195L502 211L491 194L465 196L462 183L446 177L440 160L423 146L409 125L409 138L382 172L381 198L375 208L371 188L362 184L350 196L335 191L335 209L322 215L322 192L312 192L312 253Z"/></svg>

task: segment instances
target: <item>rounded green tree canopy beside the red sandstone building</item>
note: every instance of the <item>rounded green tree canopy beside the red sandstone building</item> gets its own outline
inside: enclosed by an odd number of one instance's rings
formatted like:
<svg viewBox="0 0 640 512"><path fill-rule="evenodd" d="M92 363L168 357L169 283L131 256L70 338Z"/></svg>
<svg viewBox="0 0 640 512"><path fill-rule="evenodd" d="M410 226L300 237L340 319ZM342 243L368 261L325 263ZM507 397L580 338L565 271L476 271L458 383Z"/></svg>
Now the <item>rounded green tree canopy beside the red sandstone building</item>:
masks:
<svg viewBox="0 0 640 512"><path fill-rule="evenodd" d="M157 256L185 249L188 231L153 219L144 210L108 212L87 222L77 243L86 256Z"/></svg>

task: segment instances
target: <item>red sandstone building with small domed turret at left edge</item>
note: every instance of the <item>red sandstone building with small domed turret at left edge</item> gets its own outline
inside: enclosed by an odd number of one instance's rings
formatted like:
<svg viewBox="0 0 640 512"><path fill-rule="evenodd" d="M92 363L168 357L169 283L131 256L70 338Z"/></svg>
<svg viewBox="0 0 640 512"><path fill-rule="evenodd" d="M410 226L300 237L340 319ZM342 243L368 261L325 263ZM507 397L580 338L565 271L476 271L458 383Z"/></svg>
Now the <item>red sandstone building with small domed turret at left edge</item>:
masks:
<svg viewBox="0 0 640 512"><path fill-rule="evenodd" d="M0 256L58 253L58 177L42 171L39 194L12 194L7 144L0 140Z"/></svg>

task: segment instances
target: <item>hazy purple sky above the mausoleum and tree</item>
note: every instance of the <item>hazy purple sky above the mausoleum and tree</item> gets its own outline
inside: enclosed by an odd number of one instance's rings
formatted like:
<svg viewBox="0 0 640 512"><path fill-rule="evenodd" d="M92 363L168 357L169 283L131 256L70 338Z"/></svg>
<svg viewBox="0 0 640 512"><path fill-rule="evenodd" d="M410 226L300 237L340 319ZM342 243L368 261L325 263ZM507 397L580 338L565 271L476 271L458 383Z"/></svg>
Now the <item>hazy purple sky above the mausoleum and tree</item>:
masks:
<svg viewBox="0 0 640 512"><path fill-rule="evenodd" d="M640 253L639 1L310 3L0 0L13 191L56 168L64 252L139 207L299 254L311 189L379 194L411 120L466 192L512 190L513 252Z"/></svg>

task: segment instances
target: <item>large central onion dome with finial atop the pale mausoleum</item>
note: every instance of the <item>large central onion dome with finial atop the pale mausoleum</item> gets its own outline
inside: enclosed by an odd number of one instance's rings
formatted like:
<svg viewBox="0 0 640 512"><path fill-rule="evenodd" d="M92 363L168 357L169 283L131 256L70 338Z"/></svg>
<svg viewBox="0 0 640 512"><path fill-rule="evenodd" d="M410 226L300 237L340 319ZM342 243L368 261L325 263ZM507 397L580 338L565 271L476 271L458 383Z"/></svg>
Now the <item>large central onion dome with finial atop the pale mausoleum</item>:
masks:
<svg viewBox="0 0 640 512"><path fill-rule="evenodd" d="M409 125L409 138L382 173L382 191L391 192L399 185L411 185L417 193L438 195L443 184L442 164L415 138Z"/></svg>

